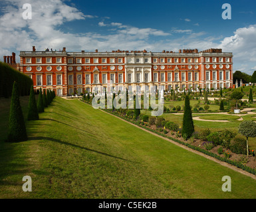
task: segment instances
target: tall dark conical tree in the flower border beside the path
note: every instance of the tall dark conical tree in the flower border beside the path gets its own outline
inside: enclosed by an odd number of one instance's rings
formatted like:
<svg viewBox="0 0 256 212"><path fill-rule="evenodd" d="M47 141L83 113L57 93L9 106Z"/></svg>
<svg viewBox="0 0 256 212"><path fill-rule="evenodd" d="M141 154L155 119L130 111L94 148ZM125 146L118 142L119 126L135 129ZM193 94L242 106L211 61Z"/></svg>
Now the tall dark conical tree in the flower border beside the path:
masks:
<svg viewBox="0 0 256 212"><path fill-rule="evenodd" d="M193 127L192 111L190 107L190 98L188 97L188 95L186 95L183 124L182 124L182 137L187 140L192 136L193 131L194 131L194 127Z"/></svg>

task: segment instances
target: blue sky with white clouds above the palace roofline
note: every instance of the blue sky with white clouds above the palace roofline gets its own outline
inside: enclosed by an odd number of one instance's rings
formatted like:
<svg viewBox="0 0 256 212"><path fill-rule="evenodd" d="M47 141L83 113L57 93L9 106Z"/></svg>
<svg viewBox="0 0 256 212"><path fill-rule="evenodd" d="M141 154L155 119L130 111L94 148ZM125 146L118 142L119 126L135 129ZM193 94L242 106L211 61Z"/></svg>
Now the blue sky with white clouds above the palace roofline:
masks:
<svg viewBox="0 0 256 212"><path fill-rule="evenodd" d="M24 20L24 3L32 19ZM231 20L223 20L223 3ZM20 50L68 51L223 48L233 70L256 70L256 1L0 0L0 56ZM19 57L17 56L17 60Z"/></svg>

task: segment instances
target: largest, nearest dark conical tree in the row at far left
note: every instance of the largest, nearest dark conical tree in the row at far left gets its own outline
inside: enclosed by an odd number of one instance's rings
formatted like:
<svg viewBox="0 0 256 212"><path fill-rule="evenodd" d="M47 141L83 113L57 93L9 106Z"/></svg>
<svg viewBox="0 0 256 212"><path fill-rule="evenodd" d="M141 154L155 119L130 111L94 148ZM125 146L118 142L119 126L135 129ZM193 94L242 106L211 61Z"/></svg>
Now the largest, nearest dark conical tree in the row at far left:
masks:
<svg viewBox="0 0 256 212"><path fill-rule="evenodd" d="M25 121L19 102L19 91L16 81L13 82L13 93L11 95L11 107L9 115L9 134L7 141L19 142L27 140Z"/></svg>

